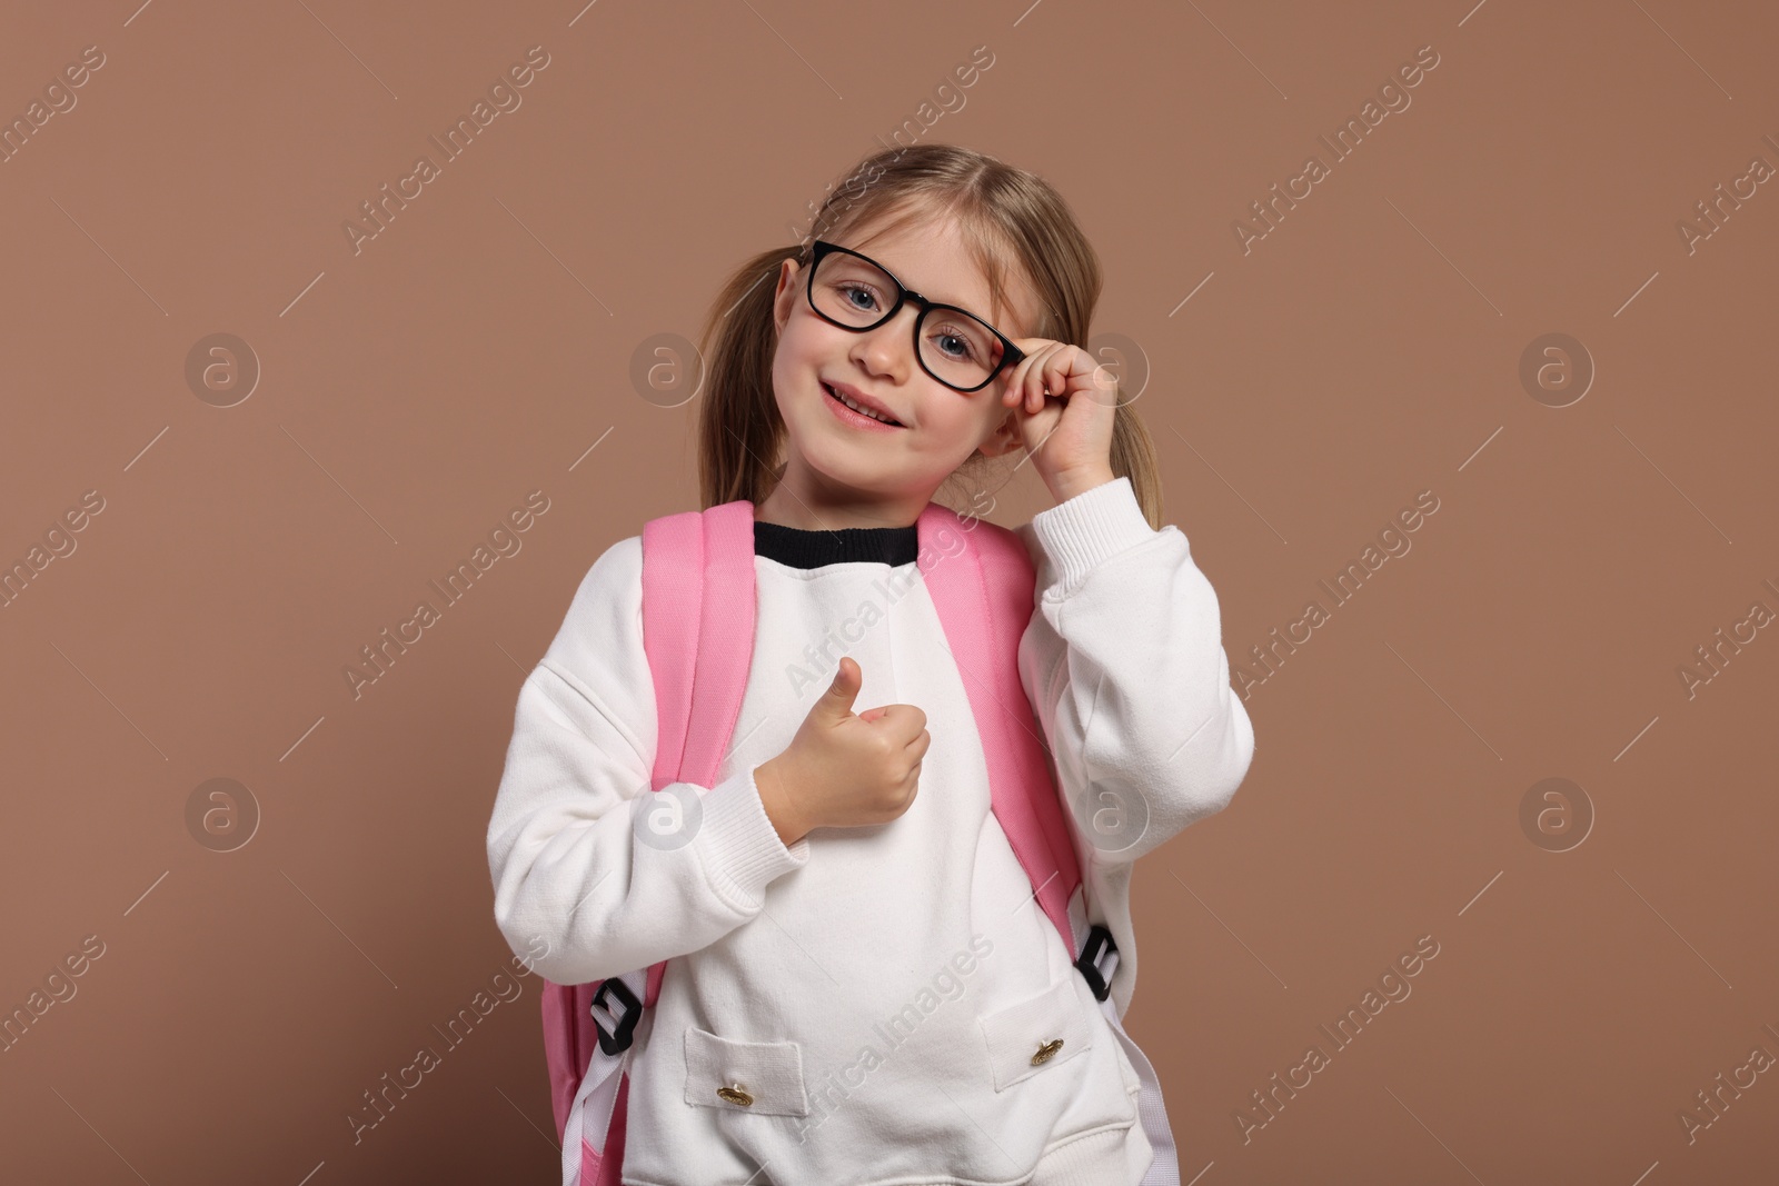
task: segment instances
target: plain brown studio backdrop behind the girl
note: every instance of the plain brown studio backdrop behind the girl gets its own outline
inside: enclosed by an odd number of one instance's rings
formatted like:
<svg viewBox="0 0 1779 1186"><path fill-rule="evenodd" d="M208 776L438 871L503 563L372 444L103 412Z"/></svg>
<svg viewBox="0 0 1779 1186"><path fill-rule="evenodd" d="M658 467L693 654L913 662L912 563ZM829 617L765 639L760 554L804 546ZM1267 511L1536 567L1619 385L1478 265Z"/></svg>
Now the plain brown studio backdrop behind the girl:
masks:
<svg viewBox="0 0 1779 1186"><path fill-rule="evenodd" d="M1779 181L1692 252L1676 229L1779 165L1772 5L123 0L0 25L7 121L105 55L0 164L0 562L103 498L0 610L0 1005L105 944L0 1054L9 1181L555 1181L535 978L359 1143L347 1115L511 957L484 830L578 580L696 507L697 404L644 398L637 349L696 338L719 279L911 117L1078 212L1231 663L1439 498L1252 690L1233 805L1139 866L1128 1022L1183 1181L1772 1181L1779 1076L1694 1142L1678 1117L1779 1054L1779 638L1694 697L1678 669L1779 610ZM1235 219L1425 44L1413 105L1244 254ZM530 46L523 105L354 254L359 203ZM231 407L187 381L213 333L263 372ZM1598 368L1566 407L1519 379L1548 333ZM1048 505L1028 477L994 521ZM523 549L354 697L359 647L535 489ZM187 823L217 777L260 813L233 852ZM1594 813L1567 852L1521 827L1548 777ZM1413 996L1244 1140L1236 1110L1421 935Z"/></svg>

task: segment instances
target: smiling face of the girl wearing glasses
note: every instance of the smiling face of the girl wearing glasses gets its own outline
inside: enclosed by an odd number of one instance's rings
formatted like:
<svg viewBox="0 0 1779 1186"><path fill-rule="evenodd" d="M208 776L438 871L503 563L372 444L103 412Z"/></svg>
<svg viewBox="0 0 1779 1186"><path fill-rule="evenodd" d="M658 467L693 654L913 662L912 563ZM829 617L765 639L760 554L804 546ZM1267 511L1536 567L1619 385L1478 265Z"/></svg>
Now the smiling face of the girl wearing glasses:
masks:
<svg viewBox="0 0 1779 1186"><path fill-rule="evenodd" d="M911 290L970 309L1012 340L1028 336L1037 320L1037 297L1023 277L1010 279L1014 309L989 304L987 279L950 220L870 240L852 231L833 242L863 251ZM808 528L906 526L978 448L994 457L1018 445L1019 409L1000 400L1012 366L980 391L957 391L914 357L918 306L904 304L886 324L852 333L809 308L808 286L808 270L786 260L772 306L779 329L772 388L788 461L763 503L770 517ZM825 384L863 393L900 427L861 425Z"/></svg>

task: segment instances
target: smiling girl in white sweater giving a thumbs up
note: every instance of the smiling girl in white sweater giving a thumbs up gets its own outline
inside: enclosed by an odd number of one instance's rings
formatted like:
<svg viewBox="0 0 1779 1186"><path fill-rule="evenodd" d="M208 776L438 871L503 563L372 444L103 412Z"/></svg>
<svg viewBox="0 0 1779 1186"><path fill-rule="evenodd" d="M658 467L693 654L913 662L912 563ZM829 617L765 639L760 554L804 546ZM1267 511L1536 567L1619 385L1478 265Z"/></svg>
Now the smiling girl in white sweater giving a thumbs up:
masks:
<svg viewBox="0 0 1779 1186"><path fill-rule="evenodd" d="M633 535L519 690L495 918L564 985L672 960L628 1051L624 1182L1178 1182L1119 1017L1131 862L1222 809L1254 752L1217 596L1083 349L1099 267L1062 197L945 144L861 178L706 327L703 503L754 503L754 660L720 777L664 788L697 797L688 836L637 827L656 709ZM1037 581L1018 660L1119 953L1092 973L991 811L916 565L939 487L1014 453L1057 503L1018 532Z"/></svg>

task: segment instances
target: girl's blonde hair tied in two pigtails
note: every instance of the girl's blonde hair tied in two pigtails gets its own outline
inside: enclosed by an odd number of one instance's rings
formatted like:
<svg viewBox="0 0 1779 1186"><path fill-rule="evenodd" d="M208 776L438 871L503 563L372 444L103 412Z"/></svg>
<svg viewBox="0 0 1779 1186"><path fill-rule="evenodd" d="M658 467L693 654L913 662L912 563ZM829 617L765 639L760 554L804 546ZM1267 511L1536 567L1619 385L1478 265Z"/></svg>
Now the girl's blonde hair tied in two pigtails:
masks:
<svg viewBox="0 0 1779 1186"><path fill-rule="evenodd" d="M749 258L724 283L704 322L704 405L697 425L697 480L703 507L760 503L785 466L785 421L772 393L777 349L774 295L785 260L808 267L815 238L849 229L891 231L932 217L952 217L982 268L994 317L1007 308L1009 274L1021 274L1039 297L1039 324L1025 336L1087 349L1101 272L1092 245L1062 196L1042 178L955 144L882 149L859 160L815 213L809 235ZM1155 441L1137 409L1117 393L1112 418L1112 473L1128 477L1155 530L1162 528L1162 480ZM982 477L996 459L973 453L948 478ZM936 498L936 501L939 501ZM968 501L968 500L966 500ZM952 507L962 512L962 507Z"/></svg>

